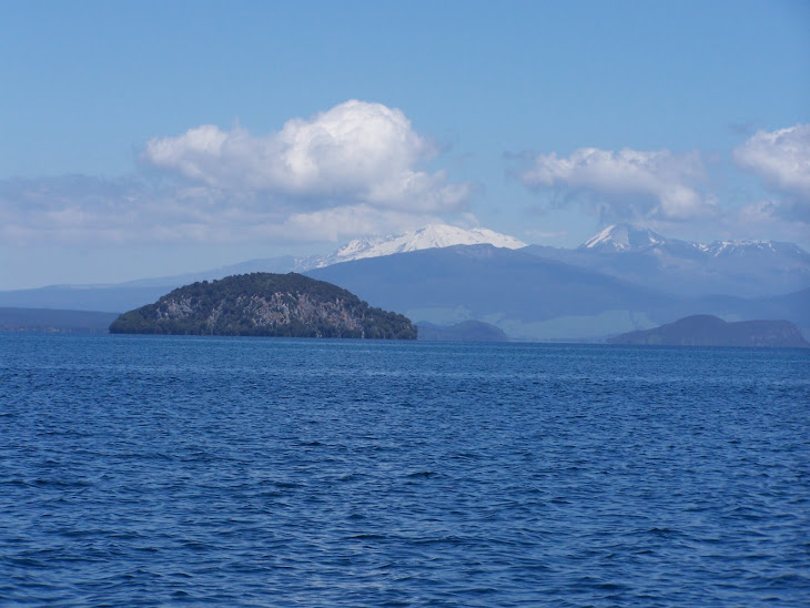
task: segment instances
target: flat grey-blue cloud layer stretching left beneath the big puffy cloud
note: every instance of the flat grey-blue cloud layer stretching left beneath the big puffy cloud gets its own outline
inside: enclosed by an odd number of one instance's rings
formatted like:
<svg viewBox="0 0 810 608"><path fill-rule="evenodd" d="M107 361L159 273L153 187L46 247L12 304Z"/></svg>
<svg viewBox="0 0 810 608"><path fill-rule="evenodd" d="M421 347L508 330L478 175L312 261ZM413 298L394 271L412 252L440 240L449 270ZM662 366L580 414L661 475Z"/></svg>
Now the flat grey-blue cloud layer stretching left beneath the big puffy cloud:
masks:
<svg viewBox="0 0 810 608"><path fill-rule="evenodd" d="M0 242L31 245L301 243L412 230L431 213L367 204L297 211L209 188L70 176L0 181Z"/></svg>

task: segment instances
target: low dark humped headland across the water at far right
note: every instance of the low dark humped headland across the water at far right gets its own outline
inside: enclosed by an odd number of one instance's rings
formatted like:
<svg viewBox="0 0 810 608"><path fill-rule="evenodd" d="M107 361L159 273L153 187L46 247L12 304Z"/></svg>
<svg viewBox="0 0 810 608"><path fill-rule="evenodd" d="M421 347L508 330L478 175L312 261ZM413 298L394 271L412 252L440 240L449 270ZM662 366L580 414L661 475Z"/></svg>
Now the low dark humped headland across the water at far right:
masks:
<svg viewBox="0 0 810 608"><path fill-rule="evenodd" d="M629 332L609 344L666 346L766 346L808 348L799 328L788 321L738 321L728 323L712 315L693 315L654 330Z"/></svg>

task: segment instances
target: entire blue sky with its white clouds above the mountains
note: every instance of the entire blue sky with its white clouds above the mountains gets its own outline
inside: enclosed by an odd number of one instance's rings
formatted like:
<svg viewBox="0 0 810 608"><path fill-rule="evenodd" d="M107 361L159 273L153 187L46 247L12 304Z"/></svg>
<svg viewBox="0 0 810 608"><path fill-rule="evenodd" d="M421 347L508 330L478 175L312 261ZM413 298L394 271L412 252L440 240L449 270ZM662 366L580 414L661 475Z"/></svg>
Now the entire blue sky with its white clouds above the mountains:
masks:
<svg viewBox="0 0 810 608"><path fill-rule="evenodd" d="M614 222L810 250L810 2L0 0L0 290Z"/></svg>

